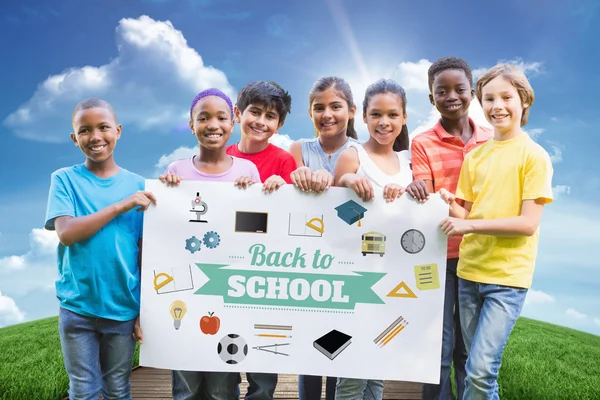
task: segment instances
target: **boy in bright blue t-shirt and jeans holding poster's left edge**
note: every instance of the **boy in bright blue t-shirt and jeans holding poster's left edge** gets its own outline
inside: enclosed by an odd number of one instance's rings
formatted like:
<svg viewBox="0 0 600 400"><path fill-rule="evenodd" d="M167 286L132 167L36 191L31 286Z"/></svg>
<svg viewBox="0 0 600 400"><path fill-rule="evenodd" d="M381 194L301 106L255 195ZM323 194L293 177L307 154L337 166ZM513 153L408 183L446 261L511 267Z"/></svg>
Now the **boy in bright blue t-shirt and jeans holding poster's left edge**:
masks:
<svg viewBox="0 0 600 400"><path fill-rule="evenodd" d="M80 102L72 123L86 160L52 174L45 223L60 240L56 295L69 397L131 398L142 236L134 209L156 199L141 176L115 163L121 125L109 103Z"/></svg>

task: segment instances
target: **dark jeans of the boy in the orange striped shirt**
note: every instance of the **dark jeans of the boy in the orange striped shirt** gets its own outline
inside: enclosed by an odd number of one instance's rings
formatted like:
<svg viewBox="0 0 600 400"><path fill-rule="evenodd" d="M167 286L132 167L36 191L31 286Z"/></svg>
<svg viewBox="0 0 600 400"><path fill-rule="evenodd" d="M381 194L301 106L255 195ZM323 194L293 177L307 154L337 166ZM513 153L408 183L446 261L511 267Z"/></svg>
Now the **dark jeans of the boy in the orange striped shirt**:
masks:
<svg viewBox="0 0 600 400"><path fill-rule="evenodd" d="M465 391L465 364L467 349L460 328L460 307L458 306L458 277L456 267L458 258L446 262L446 292L444 295L444 328L442 334L442 365L440 383L423 385L423 400L451 400L451 365L454 361L456 398L462 399Z"/></svg>

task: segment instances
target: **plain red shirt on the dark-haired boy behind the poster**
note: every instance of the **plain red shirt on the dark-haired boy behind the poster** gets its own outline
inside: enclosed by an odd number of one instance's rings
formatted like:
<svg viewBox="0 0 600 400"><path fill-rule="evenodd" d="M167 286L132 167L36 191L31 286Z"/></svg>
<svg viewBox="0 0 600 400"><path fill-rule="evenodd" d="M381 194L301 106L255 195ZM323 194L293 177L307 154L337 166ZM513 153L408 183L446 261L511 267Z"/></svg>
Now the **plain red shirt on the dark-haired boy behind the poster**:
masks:
<svg viewBox="0 0 600 400"><path fill-rule="evenodd" d="M273 175L279 175L286 183L292 183L290 174L296 170L296 160L291 153L274 144L269 143L266 149L258 153L242 153L236 143L227 147L227 154L252 161L258 168L263 183Z"/></svg>

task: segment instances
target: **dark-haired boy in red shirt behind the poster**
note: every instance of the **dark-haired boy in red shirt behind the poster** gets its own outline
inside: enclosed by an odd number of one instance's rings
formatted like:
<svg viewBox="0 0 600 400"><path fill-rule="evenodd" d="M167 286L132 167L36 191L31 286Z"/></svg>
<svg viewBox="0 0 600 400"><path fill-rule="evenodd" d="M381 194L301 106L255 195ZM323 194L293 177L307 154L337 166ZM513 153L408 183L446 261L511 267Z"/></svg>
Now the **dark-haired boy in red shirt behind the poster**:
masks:
<svg viewBox="0 0 600 400"><path fill-rule="evenodd" d="M242 88L233 110L242 137L227 148L227 154L252 161L267 192L292 183L290 174L296 170L294 156L269 143L283 126L291 106L291 96L279 85L259 81Z"/></svg>

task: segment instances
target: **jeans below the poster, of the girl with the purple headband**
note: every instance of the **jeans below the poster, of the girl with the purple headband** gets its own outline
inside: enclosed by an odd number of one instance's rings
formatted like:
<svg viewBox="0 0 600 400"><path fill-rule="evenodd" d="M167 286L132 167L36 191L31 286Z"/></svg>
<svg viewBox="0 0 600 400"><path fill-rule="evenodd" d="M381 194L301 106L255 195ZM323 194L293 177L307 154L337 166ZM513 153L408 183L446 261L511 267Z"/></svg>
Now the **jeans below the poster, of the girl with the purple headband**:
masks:
<svg viewBox="0 0 600 400"><path fill-rule="evenodd" d="M171 371L173 400L237 400L237 372Z"/></svg>

